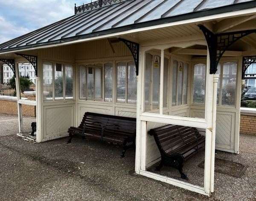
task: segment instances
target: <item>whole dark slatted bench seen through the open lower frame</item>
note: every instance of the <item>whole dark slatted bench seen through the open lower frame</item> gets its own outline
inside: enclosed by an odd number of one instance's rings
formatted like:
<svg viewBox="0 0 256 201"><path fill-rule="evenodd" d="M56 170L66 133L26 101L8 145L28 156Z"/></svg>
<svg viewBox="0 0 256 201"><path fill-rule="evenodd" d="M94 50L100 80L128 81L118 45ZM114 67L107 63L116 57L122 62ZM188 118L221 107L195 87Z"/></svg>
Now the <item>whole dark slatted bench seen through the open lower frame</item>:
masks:
<svg viewBox="0 0 256 201"><path fill-rule="evenodd" d="M156 170L160 171L163 166L174 167L179 170L181 178L187 179L183 164L200 149L204 149L205 136L196 128L177 125L151 129L149 134L154 135L161 154L161 162Z"/></svg>

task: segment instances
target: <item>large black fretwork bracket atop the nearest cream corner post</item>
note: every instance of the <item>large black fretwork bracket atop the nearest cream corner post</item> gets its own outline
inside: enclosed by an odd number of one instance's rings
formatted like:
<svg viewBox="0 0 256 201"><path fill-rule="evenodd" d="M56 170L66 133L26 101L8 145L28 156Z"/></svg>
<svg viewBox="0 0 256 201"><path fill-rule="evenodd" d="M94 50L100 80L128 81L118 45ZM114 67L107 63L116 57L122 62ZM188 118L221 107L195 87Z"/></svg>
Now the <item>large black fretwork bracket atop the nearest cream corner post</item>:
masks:
<svg viewBox="0 0 256 201"><path fill-rule="evenodd" d="M252 29L252 30L245 30L245 31L239 31L239 32L214 34L205 26L203 25L198 25L198 26L204 33L204 36L207 41L209 56L210 56L210 74L216 73L218 63L228 47L230 47L233 43L235 43L237 40L241 39L242 37L256 32L256 29Z"/></svg>

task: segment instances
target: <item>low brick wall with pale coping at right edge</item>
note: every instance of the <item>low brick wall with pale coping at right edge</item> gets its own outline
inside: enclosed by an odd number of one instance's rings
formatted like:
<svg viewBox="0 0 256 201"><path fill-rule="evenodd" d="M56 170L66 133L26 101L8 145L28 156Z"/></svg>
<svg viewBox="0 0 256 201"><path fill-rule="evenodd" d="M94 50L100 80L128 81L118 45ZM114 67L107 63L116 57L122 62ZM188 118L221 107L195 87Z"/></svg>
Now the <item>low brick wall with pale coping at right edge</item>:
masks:
<svg viewBox="0 0 256 201"><path fill-rule="evenodd" d="M256 109L241 108L240 133L256 135Z"/></svg>

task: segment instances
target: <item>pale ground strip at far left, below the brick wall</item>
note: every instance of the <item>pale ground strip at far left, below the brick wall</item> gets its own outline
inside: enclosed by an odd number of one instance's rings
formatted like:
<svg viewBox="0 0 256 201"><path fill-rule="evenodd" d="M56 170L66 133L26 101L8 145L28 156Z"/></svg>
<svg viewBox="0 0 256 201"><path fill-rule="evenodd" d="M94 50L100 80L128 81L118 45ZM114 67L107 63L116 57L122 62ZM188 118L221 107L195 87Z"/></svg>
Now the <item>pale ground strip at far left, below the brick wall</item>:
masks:
<svg viewBox="0 0 256 201"><path fill-rule="evenodd" d="M36 118L23 116L23 132L32 132L31 123ZM18 116L0 113L0 136L13 135L19 132Z"/></svg>

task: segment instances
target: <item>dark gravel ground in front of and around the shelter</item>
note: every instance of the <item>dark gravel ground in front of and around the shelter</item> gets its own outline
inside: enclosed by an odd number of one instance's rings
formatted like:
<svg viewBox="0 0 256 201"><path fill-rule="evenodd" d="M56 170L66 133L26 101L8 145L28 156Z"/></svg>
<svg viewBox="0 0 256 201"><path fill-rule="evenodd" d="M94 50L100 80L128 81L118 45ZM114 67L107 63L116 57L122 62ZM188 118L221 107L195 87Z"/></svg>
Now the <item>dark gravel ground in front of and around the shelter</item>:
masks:
<svg viewBox="0 0 256 201"><path fill-rule="evenodd" d="M242 178L216 173L211 197L135 175L133 150L120 158L112 144L66 142L0 137L0 201L256 201L256 136L241 135L239 155L217 153L249 167Z"/></svg>

